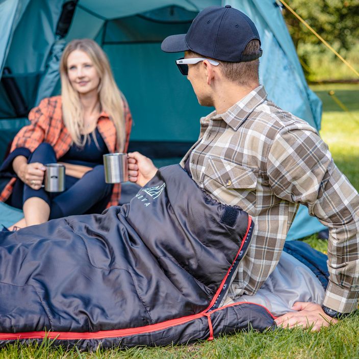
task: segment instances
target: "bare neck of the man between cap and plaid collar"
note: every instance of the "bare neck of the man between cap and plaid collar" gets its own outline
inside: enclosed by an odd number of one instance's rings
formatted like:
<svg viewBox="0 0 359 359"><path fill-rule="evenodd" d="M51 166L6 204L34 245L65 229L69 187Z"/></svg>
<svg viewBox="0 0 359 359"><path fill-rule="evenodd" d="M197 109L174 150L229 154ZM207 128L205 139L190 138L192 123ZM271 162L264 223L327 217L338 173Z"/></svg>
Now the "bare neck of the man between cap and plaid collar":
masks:
<svg viewBox="0 0 359 359"><path fill-rule="evenodd" d="M225 113L230 107L247 96L248 93L258 86L259 84L253 84L250 87L242 87L234 83L225 84L222 89L216 92L216 95L213 98L217 114Z"/></svg>

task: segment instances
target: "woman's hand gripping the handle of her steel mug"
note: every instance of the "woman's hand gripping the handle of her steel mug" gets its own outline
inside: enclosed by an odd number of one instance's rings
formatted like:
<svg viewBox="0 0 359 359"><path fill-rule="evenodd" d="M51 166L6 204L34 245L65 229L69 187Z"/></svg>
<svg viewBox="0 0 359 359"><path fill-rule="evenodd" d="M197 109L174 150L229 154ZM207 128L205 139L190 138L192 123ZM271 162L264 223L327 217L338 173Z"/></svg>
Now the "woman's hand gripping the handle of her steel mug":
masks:
<svg viewBox="0 0 359 359"><path fill-rule="evenodd" d="M34 190L41 188L46 170L42 163L27 163L25 157L17 156L13 161L13 169L24 184Z"/></svg>

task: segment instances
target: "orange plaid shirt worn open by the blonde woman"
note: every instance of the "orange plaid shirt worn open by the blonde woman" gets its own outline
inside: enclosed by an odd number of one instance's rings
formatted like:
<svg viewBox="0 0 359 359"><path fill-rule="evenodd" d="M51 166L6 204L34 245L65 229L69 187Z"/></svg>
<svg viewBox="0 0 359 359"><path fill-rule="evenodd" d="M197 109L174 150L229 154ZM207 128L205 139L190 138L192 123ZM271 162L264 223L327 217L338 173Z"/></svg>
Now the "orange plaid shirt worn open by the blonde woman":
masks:
<svg viewBox="0 0 359 359"><path fill-rule="evenodd" d="M132 116L126 99L122 96L123 112L125 118L125 145L124 148L116 148L116 129L109 115L102 112L97 120L97 129L105 141L110 153L115 151L126 152L129 146ZM30 124L22 129L14 137L11 151L15 148L25 147L33 152L40 143L46 142L53 146L56 158L59 159L70 149L72 138L62 120L61 96L44 98L38 107L29 113ZM11 195L16 177L10 179L0 194L0 201L5 202ZM121 195L121 185L114 184L111 200L107 207L117 206Z"/></svg>

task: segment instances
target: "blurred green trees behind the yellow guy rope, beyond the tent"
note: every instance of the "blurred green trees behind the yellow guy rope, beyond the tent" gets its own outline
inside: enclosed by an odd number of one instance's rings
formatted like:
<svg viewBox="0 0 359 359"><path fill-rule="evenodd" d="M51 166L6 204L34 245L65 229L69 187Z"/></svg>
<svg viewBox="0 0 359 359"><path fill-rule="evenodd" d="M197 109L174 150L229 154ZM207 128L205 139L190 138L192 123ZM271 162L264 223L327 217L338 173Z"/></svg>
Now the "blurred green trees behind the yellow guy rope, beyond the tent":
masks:
<svg viewBox="0 0 359 359"><path fill-rule="evenodd" d="M359 70L359 0L287 0L339 54ZM307 80L359 80L321 41L284 8L284 18Z"/></svg>

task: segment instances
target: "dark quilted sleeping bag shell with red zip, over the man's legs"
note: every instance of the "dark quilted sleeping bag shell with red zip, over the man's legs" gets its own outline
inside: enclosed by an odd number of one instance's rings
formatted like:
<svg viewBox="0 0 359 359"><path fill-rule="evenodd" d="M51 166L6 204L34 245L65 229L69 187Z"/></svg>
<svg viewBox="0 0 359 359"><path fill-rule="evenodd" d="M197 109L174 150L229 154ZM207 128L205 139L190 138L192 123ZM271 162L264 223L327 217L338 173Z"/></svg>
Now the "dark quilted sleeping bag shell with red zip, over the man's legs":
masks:
<svg viewBox="0 0 359 359"><path fill-rule="evenodd" d="M260 305L218 308L253 225L173 165L101 215L1 232L0 345L124 348L272 327Z"/></svg>

